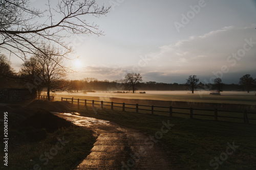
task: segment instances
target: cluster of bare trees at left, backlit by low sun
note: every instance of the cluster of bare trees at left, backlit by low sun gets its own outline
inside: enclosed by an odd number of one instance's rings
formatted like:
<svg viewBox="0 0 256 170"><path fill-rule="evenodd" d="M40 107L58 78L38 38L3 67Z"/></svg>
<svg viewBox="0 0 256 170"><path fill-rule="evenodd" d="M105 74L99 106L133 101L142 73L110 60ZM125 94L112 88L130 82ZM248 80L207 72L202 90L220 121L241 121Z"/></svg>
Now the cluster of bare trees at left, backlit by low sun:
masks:
<svg viewBox="0 0 256 170"><path fill-rule="evenodd" d="M63 90L68 86L67 81L63 78L65 78L69 69L63 66L63 58L56 54L58 54L58 49L54 46L42 45L40 51L25 60L18 73L13 71L7 57L0 55L1 82L8 84L10 87L10 84L18 83L23 87L25 84L31 93L37 91L38 95L41 94L42 90L46 90L48 100L50 100L51 90Z"/></svg>

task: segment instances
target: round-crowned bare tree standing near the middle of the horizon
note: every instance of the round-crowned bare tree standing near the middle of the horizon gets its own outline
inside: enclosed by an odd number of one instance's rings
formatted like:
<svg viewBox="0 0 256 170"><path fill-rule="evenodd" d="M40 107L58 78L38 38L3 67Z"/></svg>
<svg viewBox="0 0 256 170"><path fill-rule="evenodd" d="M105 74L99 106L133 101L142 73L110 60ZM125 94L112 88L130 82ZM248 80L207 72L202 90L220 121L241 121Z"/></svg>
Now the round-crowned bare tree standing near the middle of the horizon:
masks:
<svg viewBox="0 0 256 170"><path fill-rule="evenodd" d="M124 77L124 83L128 88L133 89L133 93L136 90L136 86L142 81L140 74L136 73L127 73Z"/></svg>

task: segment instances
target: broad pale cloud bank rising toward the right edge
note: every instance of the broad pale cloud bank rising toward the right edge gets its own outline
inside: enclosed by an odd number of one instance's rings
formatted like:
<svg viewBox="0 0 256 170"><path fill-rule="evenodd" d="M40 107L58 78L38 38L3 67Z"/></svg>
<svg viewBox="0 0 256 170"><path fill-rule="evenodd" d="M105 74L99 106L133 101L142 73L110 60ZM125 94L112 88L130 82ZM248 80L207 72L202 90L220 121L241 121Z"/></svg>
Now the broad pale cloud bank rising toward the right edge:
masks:
<svg viewBox="0 0 256 170"><path fill-rule="evenodd" d="M240 59L232 57L232 54L238 53L239 50L241 52L244 44L250 40L252 47L245 52L243 57L239 57ZM250 47L249 44L246 47ZM239 79L229 78L234 73L248 72L248 74L253 75L256 72L255 55L256 34L254 27L224 27L204 35L191 36L188 39L161 46L159 51L154 54L153 60L143 71L164 72L168 77L176 77L178 74L210 78L214 76L212 72L220 71L222 66L226 65L228 72L225 72L224 75L230 83L231 80L237 82L235 79ZM234 64L231 60L237 61ZM223 78L225 78L224 75ZM153 76L152 79L154 80ZM161 74L159 76L162 77ZM149 75L147 77L149 79ZM224 79L223 82L225 82Z"/></svg>

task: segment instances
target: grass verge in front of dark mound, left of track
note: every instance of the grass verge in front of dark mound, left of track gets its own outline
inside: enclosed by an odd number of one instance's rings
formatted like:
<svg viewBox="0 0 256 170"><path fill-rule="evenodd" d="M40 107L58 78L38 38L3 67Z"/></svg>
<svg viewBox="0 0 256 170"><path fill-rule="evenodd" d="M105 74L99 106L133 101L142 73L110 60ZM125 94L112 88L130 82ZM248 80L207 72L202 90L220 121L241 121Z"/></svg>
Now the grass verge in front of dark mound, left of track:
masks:
<svg viewBox="0 0 256 170"><path fill-rule="evenodd" d="M15 141L22 136L19 133L16 130L10 131L8 169L24 170L39 169L39 167L41 169L72 169L90 154L95 142L95 138L89 130L77 127L47 133L45 139L36 142L19 143L19 141ZM68 141L63 145L58 143L59 150L56 148L57 138ZM17 145L16 142L19 144ZM45 152L52 154L48 162ZM39 160L40 156L41 160ZM1 166L3 166L3 163Z"/></svg>

